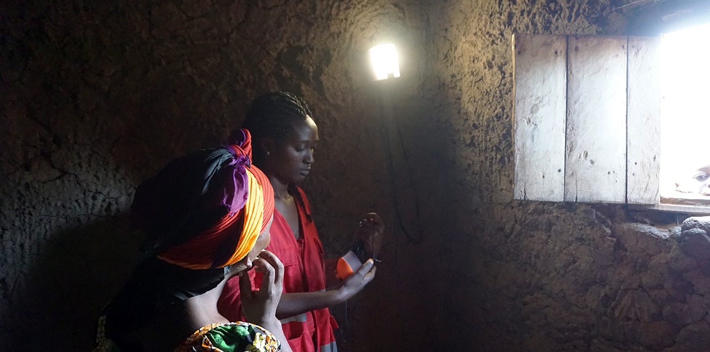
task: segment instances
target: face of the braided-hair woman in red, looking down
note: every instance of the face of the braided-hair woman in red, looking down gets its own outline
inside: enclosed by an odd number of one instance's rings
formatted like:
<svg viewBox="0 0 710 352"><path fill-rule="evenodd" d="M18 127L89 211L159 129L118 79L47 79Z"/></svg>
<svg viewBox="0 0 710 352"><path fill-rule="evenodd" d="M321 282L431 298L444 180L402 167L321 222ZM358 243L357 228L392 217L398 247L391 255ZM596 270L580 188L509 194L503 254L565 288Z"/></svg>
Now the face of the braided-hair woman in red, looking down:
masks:
<svg viewBox="0 0 710 352"><path fill-rule="evenodd" d="M264 172L284 183L302 182L310 172L317 143L318 126L308 116L293 126L283 139L266 145L268 154Z"/></svg>

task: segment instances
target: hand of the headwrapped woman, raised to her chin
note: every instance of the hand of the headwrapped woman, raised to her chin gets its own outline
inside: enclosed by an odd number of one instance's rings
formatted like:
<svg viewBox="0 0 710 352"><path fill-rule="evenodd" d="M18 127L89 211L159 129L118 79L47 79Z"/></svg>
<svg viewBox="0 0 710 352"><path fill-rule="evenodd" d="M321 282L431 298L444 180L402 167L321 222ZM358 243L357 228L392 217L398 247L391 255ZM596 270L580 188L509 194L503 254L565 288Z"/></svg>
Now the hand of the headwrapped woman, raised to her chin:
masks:
<svg viewBox="0 0 710 352"><path fill-rule="evenodd" d="M283 292L283 263L270 251L262 251L253 261L254 270L263 273L259 290L251 289L247 273L239 277L241 310L250 323L266 327L276 319L276 307ZM278 322L278 321L277 321Z"/></svg>

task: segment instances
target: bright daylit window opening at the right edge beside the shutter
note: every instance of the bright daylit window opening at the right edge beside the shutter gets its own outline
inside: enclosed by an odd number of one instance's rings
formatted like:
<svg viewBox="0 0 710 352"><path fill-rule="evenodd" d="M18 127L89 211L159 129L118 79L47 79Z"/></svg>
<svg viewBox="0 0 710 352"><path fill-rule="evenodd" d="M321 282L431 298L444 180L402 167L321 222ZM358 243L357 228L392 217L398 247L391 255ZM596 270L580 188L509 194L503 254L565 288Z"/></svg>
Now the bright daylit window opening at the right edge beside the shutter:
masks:
<svg viewBox="0 0 710 352"><path fill-rule="evenodd" d="M661 197L710 204L710 25L667 33L660 51Z"/></svg>

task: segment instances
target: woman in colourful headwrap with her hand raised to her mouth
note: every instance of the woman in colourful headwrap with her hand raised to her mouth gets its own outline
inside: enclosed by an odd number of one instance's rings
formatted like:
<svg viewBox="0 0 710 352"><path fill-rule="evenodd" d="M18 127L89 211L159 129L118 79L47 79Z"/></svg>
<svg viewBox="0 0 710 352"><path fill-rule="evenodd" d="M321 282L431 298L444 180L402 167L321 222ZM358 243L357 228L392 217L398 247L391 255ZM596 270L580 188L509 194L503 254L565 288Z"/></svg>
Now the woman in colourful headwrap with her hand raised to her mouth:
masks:
<svg viewBox="0 0 710 352"><path fill-rule="evenodd" d="M283 265L264 251L273 188L251 165L249 131L237 134L173 160L136 189L131 222L146 234L144 259L102 310L94 351L290 351L275 318ZM251 289L251 268L266 277L261 290ZM235 275L249 323L217 312Z"/></svg>

